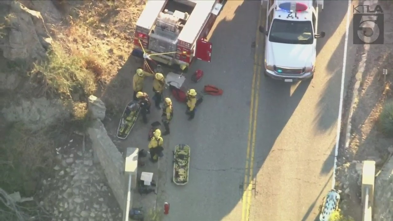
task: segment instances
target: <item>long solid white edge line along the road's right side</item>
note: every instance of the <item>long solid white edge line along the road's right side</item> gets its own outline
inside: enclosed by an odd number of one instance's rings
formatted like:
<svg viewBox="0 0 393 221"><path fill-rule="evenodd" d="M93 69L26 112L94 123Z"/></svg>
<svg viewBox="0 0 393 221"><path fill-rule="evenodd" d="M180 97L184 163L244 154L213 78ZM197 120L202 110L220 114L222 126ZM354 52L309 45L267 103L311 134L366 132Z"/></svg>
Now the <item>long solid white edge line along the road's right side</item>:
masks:
<svg viewBox="0 0 393 221"><path fill-rule="evenodd" d="M345 43L344 43L344 57L343 57L343 71L341 73L340 104L338 107L338 118L337 118L336 148L334 150L332 189L334 189L334 186L336 185L336 167L337 167L338 145L340 143L341 116L342 116L342 112L343 112L345 65L347 63L348 30L349 30L349 15L350 15L350 13L351 13L351 0L348 0L348 11L347 11L347 15L346 15L347 16L347 26L345 29Z"/></svg>

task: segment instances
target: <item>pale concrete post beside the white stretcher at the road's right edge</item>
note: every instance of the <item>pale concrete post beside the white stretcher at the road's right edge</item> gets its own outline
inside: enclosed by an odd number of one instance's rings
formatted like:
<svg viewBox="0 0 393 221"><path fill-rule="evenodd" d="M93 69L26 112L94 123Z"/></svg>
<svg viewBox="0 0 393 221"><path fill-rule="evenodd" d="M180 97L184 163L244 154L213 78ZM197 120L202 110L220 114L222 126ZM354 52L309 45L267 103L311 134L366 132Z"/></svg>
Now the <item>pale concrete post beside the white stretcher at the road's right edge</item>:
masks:
<svg viewBox="0 0 393 221"><path fill-rule="evenodd" d="M362 171L362 205L364 206L362 221L371 221L373 218L374 182L375 161L365 160Z"/></svg>

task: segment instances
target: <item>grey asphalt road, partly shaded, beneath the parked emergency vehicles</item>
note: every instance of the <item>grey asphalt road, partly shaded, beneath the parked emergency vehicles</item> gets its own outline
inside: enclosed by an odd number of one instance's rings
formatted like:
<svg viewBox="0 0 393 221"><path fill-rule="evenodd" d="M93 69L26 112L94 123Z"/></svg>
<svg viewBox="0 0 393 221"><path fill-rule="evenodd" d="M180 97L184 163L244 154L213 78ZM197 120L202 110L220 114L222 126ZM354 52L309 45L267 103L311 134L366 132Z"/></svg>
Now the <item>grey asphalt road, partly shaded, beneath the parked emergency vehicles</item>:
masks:
<svg viewBox="0 0 393 221"><path fill-rule="evenodd" d="M165 221L316 218L318 205L332 182L347 4L325 1L318 29L326 36L318 39L317 69L311 83L290 85L267 79L257 71L257 87L254 64L263 64L263 55L254 62L252 43L260 1L226 3L209 39L213 43L211 63L198 61L194 65L204 70L205 76L195 85L186 83L186 87L197 90L206 84L217 85L224 94L205 96L192 122L187 121L184 105L174 102L171 135L164 137L167 149L180 143L191 147L186 186L169 182L173 168L170 151L161 162L167 169L167 182L160 201L171 204ZM257 44L263 52L263 43ZM349 59L354 59L351 48L348 53ZM347 66L351 65L349 61ZM252 115L255 135L252 133L250 139L250 107L256 102L257 114ZM243 194L250 183L250 168L245 165L251 154L251 183L255 186L250 187L255 189Z"/></svg>

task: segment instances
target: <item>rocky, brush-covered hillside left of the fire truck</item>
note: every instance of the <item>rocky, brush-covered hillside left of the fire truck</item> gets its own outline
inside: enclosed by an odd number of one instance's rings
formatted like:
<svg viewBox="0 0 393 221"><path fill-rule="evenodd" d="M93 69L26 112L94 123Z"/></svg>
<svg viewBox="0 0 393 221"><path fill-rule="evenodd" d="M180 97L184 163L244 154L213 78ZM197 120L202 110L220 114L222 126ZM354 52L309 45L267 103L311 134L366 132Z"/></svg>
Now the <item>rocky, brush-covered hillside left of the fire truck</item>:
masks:
<svg viewBox="0 0 393 221"><path fill-rule="evenodd" d="M139 62L129 55L144 4L0 1L0 186L6 192L33 196L40 180L52 177L56 148L90 123L88 96L101 97L109 116L124 105L121 92ZM0 202L0 220L14 220L2 212Z"/></svg>

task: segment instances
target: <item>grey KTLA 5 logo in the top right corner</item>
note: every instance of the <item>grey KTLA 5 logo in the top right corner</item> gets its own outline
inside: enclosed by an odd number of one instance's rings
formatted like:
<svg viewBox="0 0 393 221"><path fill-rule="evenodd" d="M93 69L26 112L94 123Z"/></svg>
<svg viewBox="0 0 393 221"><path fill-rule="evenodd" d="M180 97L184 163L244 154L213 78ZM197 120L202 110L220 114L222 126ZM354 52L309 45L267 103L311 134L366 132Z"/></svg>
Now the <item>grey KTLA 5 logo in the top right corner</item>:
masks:
<svg viewBox="0 0 393 221"><path fill-rule="evenodd" d="M372 10L373 9L373 10ZM376 5L353 6L353 43L383 44L384 43L384 11Z"/></svg>

